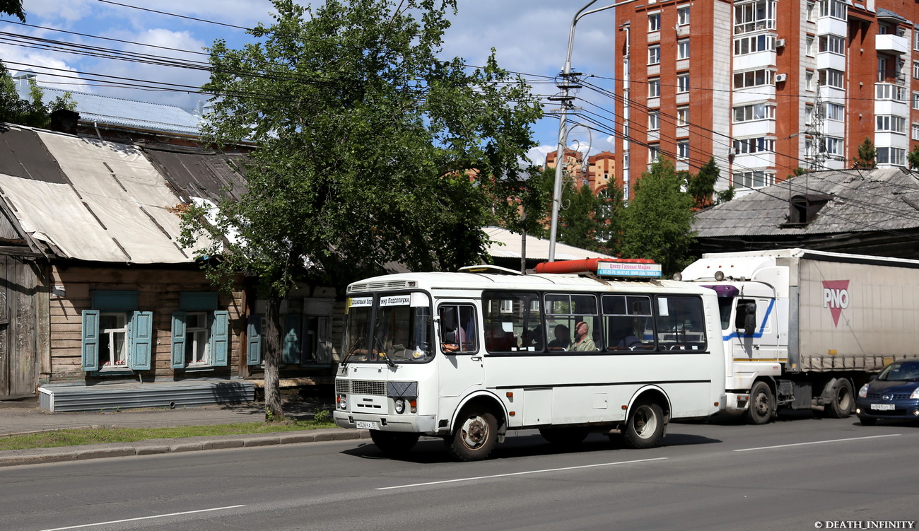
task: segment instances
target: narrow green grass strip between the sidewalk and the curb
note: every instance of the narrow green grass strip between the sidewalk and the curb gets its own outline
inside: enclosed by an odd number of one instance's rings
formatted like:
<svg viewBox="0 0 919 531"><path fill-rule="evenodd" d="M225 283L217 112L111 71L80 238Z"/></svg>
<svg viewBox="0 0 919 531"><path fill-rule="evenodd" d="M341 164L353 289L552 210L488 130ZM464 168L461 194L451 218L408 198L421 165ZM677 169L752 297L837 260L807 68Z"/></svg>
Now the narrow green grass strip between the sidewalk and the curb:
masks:
<svg viewBox="0 0 919 531"><path fill-rule="evenodd" d="M97 445L100 443L132 443L148 439L174 439L210 435L271 434L334 427L335 423L328 421L283 421L276 423L212 424L168 428L68 428L35 434L0 437L0 450Z"/></svg>

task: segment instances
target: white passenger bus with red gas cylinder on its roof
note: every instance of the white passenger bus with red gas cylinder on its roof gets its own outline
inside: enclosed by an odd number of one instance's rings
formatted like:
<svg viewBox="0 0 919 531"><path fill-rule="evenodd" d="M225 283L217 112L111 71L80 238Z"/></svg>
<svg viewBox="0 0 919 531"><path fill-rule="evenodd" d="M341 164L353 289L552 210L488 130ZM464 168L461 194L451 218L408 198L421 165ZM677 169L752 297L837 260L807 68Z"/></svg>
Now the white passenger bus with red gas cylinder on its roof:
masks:
<svg viewBox="0 0 919 531"><path fill-rule="evenodd" d="M670 420L722 409L715 292L607 281L596 260L585 264L588 275L481 266L351 284L335 424L370 430L388 454L433 435L455 458L476 460L507 430L539 429L560 445L599 432L651 447Z"/></svg>

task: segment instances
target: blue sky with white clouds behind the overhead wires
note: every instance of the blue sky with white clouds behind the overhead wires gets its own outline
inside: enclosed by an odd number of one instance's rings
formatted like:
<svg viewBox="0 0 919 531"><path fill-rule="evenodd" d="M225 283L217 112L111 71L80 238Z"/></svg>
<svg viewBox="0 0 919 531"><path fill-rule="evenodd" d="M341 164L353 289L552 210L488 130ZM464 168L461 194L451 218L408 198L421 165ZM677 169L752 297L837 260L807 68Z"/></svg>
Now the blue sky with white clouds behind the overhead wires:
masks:
<svg viewBox="0 0 919 531"><path fill-rule="evenodd" d="M483 64L494 48L499 65L513 72L529 74L528 80L542 82L533 85L534 92L550 96L556 89L546 84L547 80L541 76L554 76L561 71L572 17L587 1L459 0L459 14L451 17L453 26L445 36L444 56L462 57L467 64ZM611 3L597 0L595 6ZM233 48L251 41L244 30L225 25L248 28L256 22L271 21L271 3L268 0L159 0L155 3L140 0L25 0L23 7L26 22L31 26L16 24L18 20L15 17L0 17L0 31L4 32L0 36L0 60L6 62L11 72L29 68L39 73L42 85L181 107L194 107L201 99L201 95L194 93L193 87L207 81L207 73L62 53L15 36L148 53L182 62L206 61L206 55L201 52L215 39L227 40ZM163 11L172 16L137 7ZM613 10L584 17L577 26L573 68L583 73L612 77L614 31ZM99 74L139 80L130 83L141 86L113 86L112 78L101 78ZM612 80L597 78L590 81L610 91L614 88ZM172 85L154 85L153 82ZM164 88L171 90L162 90ZM604 115L607 124L612 122L611 99L589 90L582 90L579 96L592 102L586 104L586 108ZM593 107L595 105L599 107ZM531 158L541 164L545 153L555 150L558 120L542 119L535 129L534 137L539 142L539 148L531 152ZM574 127L569 135L570 144L580 147L581 151L587 151L590 146L591 153L611 151L609 130L608 125L606 131Z"/></svg>

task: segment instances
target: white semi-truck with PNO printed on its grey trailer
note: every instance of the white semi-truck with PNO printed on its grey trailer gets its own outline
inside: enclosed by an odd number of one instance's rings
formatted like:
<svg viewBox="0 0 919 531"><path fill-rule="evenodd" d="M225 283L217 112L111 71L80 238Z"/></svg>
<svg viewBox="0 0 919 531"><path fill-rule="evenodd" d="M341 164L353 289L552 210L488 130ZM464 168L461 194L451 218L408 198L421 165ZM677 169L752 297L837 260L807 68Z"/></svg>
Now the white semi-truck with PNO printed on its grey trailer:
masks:
<svg viewBox="0 0 919 531"><path fill-rule="evenodd" d="M919 261L805 249L703 254L677 274L718 293L726 412L843 418L872 373L919 352Z"/></svg>

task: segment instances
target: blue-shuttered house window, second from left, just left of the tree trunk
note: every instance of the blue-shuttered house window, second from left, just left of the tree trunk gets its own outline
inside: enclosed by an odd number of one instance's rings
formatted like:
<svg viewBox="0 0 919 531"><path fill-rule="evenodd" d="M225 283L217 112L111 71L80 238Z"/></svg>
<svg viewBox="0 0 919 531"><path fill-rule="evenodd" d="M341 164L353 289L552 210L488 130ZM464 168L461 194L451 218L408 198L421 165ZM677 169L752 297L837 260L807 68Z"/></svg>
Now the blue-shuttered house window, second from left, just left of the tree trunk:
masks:
<svg viewBox="0 0 919 531"><path fill-rule="evenodd" d="M172 314L173 368L226 366L230 347L230 312L218 311L217 293L179 293Z"/></svg>

